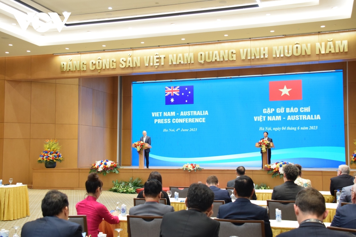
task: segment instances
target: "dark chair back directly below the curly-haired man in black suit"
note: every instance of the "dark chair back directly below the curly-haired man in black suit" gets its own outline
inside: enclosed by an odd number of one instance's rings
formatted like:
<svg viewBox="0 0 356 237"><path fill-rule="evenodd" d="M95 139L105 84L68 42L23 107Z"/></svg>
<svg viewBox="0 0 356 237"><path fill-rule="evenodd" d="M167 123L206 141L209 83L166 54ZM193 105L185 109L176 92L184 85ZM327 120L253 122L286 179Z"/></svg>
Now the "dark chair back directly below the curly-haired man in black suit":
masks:
<svg viewBox="0 0 356 237"><path fill-rule="evenodd" d="M282 211L282 220L296 221L294 212L295 201L267 200L269 220L276 220L276 209Z"/></svg>

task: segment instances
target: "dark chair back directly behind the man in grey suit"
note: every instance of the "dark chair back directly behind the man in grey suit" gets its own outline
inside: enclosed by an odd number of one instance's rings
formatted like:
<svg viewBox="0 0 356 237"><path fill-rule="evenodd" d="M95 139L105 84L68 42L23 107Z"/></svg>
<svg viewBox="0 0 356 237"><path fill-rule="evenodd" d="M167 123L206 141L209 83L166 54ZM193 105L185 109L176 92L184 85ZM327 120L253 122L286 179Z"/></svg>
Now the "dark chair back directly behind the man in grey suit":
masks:
<svg viewBox="0 0 356 237"><path fill-rule="evenodd" d="M127 216L128 237L158 237L162 216Z"/></svg>

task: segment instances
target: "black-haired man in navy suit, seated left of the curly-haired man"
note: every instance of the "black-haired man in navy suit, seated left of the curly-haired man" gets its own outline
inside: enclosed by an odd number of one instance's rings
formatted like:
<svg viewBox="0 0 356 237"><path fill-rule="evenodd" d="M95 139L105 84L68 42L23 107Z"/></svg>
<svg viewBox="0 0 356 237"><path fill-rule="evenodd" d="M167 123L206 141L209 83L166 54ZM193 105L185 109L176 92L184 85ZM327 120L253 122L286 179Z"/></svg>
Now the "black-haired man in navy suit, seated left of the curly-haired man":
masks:
<svg viewBox="0 0 356 237"><path fill-rule="evenodd" d="M235 179L233 203L221 205L217 218L230 220L263 220L265 221L265 236L272 237L271 224L269 223L267 209L251 203L250 196L254 192L253 181L248 176Z"/></svg>

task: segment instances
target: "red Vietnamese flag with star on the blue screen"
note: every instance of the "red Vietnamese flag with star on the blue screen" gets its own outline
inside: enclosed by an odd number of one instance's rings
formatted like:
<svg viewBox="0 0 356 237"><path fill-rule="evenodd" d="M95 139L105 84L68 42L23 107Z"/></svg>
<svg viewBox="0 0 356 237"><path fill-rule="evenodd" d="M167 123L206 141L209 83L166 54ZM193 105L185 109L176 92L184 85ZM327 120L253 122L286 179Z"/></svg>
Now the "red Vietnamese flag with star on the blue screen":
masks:
<svg viewBox="0 0 356 237"><path fill-rule="evenodd" d="M269 82L269 101L297 99L302 99L302 80Z"/></svg>

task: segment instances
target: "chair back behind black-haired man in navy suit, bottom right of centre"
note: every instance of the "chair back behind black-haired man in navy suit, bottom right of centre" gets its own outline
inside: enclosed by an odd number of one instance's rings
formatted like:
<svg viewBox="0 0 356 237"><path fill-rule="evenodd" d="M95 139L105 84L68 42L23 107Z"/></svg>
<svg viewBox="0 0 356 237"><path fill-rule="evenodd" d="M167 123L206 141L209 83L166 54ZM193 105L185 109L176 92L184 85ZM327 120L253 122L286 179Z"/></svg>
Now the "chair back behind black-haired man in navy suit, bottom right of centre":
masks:
<svg viewBox="0 0 356 237"><path fill-rule="evenodd" d="M218 219L220 221L219 237L265 237L265 223L259 221L240 221Z"/></svg>

